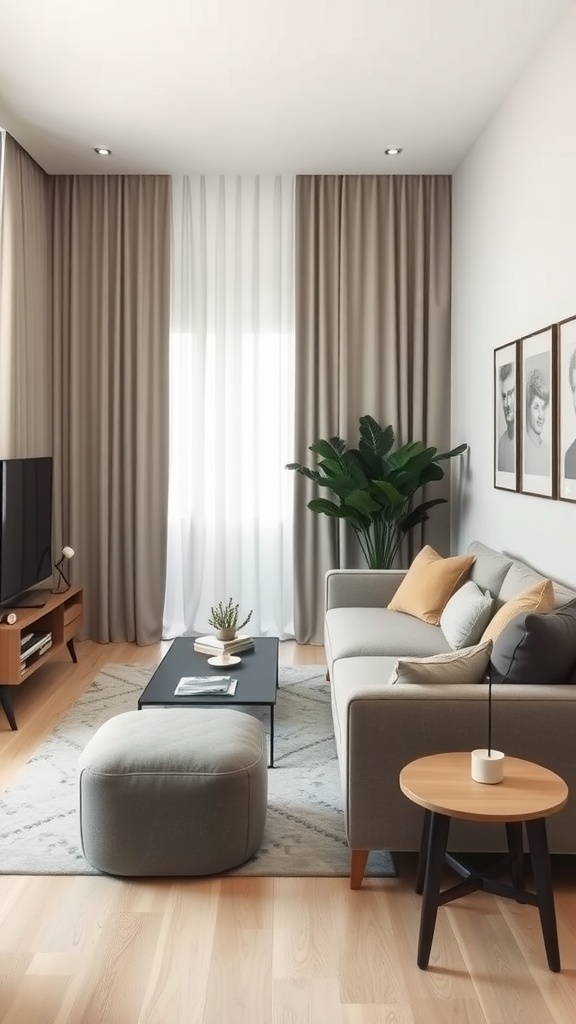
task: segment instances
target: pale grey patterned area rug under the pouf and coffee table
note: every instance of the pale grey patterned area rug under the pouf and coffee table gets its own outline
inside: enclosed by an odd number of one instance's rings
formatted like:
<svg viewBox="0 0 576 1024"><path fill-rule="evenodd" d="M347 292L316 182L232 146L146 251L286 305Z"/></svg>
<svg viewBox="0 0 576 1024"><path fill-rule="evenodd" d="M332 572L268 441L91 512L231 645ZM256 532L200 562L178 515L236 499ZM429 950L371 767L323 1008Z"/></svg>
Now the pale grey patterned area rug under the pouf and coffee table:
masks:
<svg viewBox="0 0 576 1024"><path fill-rule="evenodd" d="M78 757L98 726L136 708L153 671L107 666L0 797L0 873L98 873L80 848ZM258 714L259 709L251 711ZM268 709L262 709L266 729L268 719ZM325 670L318 666L280 669L275 765L269 772L263 845L230 873L348 874L330 693ZM366 873L394 876L390 855L372 853Z"/></svg>

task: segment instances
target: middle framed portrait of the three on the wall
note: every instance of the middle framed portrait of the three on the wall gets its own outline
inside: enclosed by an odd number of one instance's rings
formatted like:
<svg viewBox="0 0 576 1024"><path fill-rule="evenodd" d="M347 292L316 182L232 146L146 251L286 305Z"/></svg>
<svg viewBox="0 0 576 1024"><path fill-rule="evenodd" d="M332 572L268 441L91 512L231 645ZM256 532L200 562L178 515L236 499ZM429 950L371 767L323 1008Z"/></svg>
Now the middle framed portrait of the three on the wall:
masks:
<svg viewBox="0 0 576 1024"><path fill-rule="evenodd" d="M525 495L542 498L556 498L554 333L554 327L547 327L520 343L520 489Z"/></svg>

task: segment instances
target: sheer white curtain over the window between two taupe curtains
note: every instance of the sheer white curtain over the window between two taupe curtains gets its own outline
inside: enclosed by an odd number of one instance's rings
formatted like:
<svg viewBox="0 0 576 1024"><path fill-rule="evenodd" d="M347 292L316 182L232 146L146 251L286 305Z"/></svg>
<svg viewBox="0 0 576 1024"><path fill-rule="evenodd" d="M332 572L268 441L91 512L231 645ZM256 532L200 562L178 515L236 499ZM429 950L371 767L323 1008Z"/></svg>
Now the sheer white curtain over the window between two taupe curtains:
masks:
<svg viewBox="0 0 576 1024"><path fill-rule="evenodd" d="M293 636L294 179L174 177L165 637Z"/></svg>

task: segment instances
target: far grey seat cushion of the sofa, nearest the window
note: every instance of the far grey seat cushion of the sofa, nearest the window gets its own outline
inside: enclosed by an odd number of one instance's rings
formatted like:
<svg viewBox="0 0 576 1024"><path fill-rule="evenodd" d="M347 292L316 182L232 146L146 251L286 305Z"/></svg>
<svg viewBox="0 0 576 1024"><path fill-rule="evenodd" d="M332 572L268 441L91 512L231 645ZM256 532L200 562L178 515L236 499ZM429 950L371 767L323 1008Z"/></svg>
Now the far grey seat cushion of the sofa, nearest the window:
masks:
<svg viewBox="0 0 576 1024"><path fill-rule="evenodd" d="M451 649L440 626L387 608L330 608L326 634L333 660L389 655L396 662L402 654L425 657Z"/></svg>

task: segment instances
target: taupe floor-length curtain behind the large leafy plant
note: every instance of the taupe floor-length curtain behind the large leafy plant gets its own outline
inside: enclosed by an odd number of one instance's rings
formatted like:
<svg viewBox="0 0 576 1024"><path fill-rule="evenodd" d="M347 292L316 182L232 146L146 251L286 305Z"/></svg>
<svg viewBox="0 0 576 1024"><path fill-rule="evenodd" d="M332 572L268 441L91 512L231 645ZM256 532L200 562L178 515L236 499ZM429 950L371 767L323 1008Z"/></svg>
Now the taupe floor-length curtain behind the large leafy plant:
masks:
<svg viewBox="0 0 576 1024"><path fill-rule="evenodd" d="M392 423L399 443L449 446L450 237L448 175L296 179L297 462L315 465L307 449L319 437L356 442L365 414ZM327 569L362 564L347 527L308 511L315 494L297 476L300 643L322 642ZM447 478L434 496L449 497ZM446 508L433 510L412 547L425 537L448 553ZM405 560L411 554L408 548Z"/></svg>

